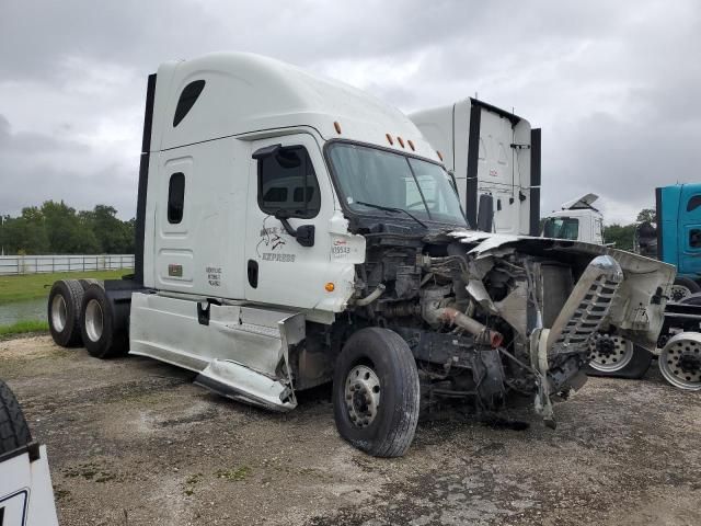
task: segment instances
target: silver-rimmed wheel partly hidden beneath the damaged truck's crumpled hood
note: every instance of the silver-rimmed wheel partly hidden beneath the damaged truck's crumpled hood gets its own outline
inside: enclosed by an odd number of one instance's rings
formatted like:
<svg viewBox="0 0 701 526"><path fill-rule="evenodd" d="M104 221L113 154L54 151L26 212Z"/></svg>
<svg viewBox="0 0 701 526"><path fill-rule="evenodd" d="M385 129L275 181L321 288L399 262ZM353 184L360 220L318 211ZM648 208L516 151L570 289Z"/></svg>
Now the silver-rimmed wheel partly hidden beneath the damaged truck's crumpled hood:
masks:
<svg viewBox="0 0 701 526"><path fill-rule="evenodd" d="M598 336L598 338L597 338ZM596 340L606 338L616 344L617 352L608 356L596 352ZM587 375L606 376L611 378L639 379L645 376L653 361L653 354L640 345L617 335L598 333L590 342L589 357L591 362L587 366ZM609 359L606 359L606 358Z"/></svg>

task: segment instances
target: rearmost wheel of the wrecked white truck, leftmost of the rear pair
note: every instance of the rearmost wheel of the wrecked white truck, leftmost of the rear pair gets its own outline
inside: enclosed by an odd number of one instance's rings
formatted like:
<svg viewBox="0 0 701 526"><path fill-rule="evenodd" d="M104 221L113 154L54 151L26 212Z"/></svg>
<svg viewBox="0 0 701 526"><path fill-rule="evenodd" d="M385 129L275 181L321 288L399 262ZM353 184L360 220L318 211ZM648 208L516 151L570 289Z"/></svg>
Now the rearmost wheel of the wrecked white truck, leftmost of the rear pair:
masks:
<svg viewBox="0 0 701 526"><path fill-rule="evenodd" d="M78 279L60 279L48 294L48 328L51 338L61 347L74 347L82 343L80 336L80 307L83 287Z"/></svg>

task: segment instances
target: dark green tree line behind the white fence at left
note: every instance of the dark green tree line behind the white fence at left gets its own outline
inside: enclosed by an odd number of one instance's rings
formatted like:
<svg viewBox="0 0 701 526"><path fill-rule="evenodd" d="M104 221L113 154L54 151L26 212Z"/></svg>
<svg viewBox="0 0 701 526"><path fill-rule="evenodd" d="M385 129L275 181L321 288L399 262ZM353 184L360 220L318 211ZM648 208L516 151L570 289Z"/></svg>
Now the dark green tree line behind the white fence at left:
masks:
<svg viewBox="0 0 701 526"><path fill-rule="evenodd" d="M0 245L13 254L133 254L136 220L123 221L108 205L76 210L62 201L2 216Z"/></svg>

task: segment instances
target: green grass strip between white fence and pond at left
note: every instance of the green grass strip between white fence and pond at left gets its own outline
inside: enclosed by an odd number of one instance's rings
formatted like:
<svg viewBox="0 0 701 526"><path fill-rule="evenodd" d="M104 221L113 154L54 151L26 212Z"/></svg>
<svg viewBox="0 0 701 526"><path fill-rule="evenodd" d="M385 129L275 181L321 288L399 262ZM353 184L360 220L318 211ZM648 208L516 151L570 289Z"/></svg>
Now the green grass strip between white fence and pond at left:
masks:
<svg viewBox="0 0 701 526"><path fill-rule="evenodd" d="M119 279L123 275L131 272L128 268L123 268L120 271L57 272L55 274L0 276L0 305L46 298L51 285L58 279L78 279L81 277Z"/></svg>

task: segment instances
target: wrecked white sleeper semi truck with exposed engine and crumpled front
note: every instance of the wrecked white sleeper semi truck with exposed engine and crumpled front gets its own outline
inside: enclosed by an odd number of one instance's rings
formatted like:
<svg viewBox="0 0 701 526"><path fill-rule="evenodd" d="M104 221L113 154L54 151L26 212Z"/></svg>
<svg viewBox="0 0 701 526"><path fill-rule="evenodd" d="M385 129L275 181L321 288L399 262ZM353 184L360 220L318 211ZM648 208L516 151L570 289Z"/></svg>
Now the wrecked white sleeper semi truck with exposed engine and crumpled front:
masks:
<svg viewBox="0 0 701 526"><path fill-rule="evenodd" d="M551 421L602 327L654 345L674 270L471 230L398 110L246 54L169 62L148 87L135 276L88 285L77 315L95 356L128 347L279 411L333 380L341 435L398 456L446 399L524 395Z"/></svg>

